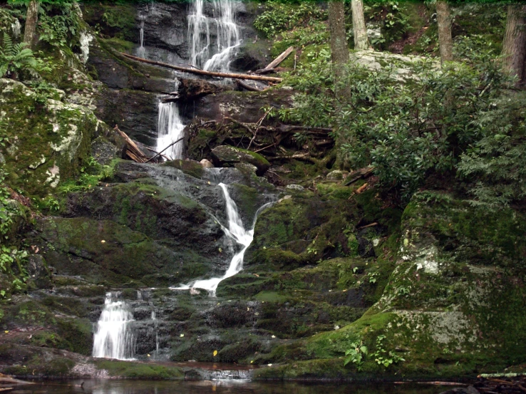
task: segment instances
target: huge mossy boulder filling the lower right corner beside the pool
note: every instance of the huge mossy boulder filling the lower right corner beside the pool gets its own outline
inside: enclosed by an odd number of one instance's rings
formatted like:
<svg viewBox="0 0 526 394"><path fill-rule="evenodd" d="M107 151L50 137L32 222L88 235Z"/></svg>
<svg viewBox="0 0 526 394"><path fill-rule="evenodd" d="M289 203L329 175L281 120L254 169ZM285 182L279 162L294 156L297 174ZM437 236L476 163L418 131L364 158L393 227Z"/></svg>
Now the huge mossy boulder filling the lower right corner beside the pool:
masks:
<svg viewBox="0 0 526 394"><path fill-rule="evenodd" d="M340 358L337 368L362 378L458 378L524 363L524 223L512 209L488 212L448 194L417 194L403 214L396 268L381 299L349 326L311 337L301 350L284 346L274 357L315 366L363 344L363 361L343 368ZM262 376L311 373L287 365Z"/></svg>

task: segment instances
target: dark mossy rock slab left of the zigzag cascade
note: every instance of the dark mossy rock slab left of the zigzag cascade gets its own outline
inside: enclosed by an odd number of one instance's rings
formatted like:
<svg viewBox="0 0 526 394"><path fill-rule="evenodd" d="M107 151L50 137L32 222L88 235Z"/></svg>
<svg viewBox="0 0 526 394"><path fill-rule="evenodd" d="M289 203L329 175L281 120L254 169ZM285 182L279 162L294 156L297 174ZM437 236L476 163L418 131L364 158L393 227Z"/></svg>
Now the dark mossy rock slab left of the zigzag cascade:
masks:
<svg viewBox="0 0 526 394"><path fill-rule="evenodd" d="M38 228L43 254L58 273L80 275L93 284L153 285L159 283L158 274L167 274L172 284L195 274L195 269L185 268L193 265L192 257L177 261L170 249L115 222L53 218L41 220Z"/></svg>

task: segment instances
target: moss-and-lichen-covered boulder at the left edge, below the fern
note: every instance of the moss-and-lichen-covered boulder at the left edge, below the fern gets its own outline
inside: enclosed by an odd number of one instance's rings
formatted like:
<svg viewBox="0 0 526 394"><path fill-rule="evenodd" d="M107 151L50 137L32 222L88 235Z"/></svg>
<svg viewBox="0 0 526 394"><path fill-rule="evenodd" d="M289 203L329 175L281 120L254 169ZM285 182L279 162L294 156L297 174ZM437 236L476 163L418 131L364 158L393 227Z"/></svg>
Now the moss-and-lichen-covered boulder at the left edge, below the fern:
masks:
<svg viewBox="0 0 526 394"><path fill-rule="evenodd" d="M0 80L0 146L8 181L30 195L47 195L75 175L90 155L102 123L81 105L66 103L61 90L38 93L23 83Z"/></svg>

